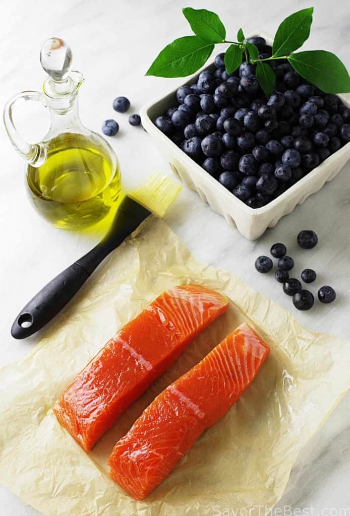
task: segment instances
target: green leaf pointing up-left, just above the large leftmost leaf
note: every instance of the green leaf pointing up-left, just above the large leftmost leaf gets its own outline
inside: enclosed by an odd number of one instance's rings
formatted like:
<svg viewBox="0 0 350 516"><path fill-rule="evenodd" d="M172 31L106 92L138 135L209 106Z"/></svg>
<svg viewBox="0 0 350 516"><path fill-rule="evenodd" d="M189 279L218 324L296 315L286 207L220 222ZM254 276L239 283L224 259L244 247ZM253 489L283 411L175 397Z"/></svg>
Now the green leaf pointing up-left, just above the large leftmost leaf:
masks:
<svg viewBox="0 0 350 516"><path fill-rule="evenodd" d="M226 38L226 29L215 12L206 9L182 9L184 17L197 36L211 43L222 43Z"/></svg>

